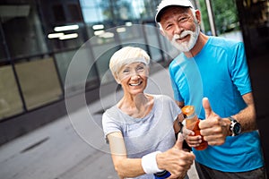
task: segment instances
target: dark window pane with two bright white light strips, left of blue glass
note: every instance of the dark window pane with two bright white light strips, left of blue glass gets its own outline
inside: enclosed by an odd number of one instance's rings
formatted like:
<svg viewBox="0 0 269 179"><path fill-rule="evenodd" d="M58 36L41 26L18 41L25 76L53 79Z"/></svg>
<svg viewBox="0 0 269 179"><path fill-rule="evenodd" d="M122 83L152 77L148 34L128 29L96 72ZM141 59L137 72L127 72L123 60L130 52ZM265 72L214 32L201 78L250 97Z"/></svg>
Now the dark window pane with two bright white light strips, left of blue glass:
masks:
<svg viewBox="0 0 269 179"><path fill-rule="evenodd" d="M40 0L40 12L52 52L81 47L87 40L78 0Z"/></svg>

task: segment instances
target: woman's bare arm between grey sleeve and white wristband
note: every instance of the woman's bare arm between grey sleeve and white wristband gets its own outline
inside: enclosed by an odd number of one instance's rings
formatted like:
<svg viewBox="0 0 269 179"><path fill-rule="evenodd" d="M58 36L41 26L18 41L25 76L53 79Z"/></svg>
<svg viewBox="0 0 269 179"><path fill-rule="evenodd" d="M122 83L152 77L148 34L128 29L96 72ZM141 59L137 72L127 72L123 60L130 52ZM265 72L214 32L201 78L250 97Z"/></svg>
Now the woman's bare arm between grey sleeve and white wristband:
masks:
<svg viewBox="0 0 269 179"><path fill-rule="evenodd" d="M126 145L121 132L108 134L111 157L120 178L144 175L141 158L127 158Z"/></svg>

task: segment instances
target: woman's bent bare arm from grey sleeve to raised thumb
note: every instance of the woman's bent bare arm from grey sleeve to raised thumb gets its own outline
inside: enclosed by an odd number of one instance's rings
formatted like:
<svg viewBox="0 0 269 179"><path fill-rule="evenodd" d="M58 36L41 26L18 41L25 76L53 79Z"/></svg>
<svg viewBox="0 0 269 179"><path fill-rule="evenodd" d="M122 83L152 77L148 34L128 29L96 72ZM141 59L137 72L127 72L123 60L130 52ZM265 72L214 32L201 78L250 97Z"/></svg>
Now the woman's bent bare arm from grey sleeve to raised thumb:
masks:
<svg viewBox="0 0 269 179"><path fill-rule="evenodd" d="M182 149L183 136L178 138L175 146L171 149L158 153L155 158L148 158L150 160L147 160L148 162L144 163L147 166L142 166L142 158L126 157L126 146L121 132L113 132L108 134L108 141L113 164L117 171L117 175L121 179L124 177L144 175L145 172L143 167L145 169L150 168L151 171L156 170L156 167L158 167L158 170L168 170L172 175L184 176L195 159L194 154L186 152ZM156 162L156 166L152 165L154 162ZM152 172L149 174L152 174Z"/></svg>

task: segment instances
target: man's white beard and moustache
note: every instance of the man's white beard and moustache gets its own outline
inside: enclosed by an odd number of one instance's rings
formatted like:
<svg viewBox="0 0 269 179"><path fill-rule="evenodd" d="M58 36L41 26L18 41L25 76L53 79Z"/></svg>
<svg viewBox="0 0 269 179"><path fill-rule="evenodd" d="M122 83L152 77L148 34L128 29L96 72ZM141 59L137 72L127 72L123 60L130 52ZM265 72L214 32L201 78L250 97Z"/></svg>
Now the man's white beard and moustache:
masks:
<svg viewBox="0 0 269 179"><path fill-rule="evenodd" d="M170 40L171 44L178 48L181 52L189 52L193 47L195 47L196 40L200 33L200 27L198 24L195 25L195 31L184 30L180 35L175 34L174 37ZM187 35L190 35L189 41L178 43L176 39L184 38Z"/></svg>

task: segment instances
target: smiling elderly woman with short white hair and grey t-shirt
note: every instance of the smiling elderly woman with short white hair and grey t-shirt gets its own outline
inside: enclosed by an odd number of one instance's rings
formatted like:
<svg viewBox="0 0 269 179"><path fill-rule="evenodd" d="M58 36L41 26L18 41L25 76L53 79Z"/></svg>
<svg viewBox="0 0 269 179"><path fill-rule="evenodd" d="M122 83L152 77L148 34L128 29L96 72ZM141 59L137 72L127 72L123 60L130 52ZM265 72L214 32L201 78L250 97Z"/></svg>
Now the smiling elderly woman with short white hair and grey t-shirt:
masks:
<svg viewBox="0 0 269 179"><path fill-rule="evenodd" d="M123 47L110 59L110 71L124 91L102 116L112 160L119 178L152 179L165 172L184 178L195 156L182 149L181 133L176 141L183 115L171 98L143 92L148 64L150 56L139 47Z"/></svg>

